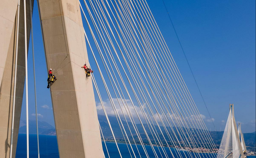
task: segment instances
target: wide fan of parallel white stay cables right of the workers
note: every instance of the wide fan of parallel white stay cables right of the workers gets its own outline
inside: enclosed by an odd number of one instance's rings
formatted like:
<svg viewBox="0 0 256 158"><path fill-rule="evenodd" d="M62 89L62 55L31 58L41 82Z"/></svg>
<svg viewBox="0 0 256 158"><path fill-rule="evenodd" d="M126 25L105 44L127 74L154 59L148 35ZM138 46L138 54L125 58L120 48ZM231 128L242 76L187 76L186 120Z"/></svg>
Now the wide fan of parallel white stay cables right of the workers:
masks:
<svg viewBox="0 0 256 158"><path fill-rule="evenodd" d="M118 122L114 126L120 128L130 157L216 157L217 147L147 1L79 4L90 66L99 72L91 74L97 108L120 157L110 116ZM101 135L105 142L102 130Z"/></svg>

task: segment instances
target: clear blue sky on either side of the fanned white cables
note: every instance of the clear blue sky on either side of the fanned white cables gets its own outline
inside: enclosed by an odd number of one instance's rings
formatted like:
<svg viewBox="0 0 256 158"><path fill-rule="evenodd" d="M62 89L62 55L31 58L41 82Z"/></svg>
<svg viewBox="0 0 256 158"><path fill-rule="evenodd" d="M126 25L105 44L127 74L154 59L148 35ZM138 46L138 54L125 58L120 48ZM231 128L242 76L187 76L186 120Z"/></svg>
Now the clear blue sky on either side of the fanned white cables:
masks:
<svg viewBox="0 0 256 158"><path fill-rule="evenodd" d="M201 114L209 115L181 51L162 1L148 0L175 62ZM243 132L255 131L255 1L165 1L217 130L224 129L234 103ZM39 120L54 126L37 6L33 13ZM88 48L87 48L88 49ZM90 52L88 52L90 53ZM89 61L92 59L90 58ZM33 76L29 47L29 76ZM35 119L34 83L29 82L29 119ZM25 95L24 95L25 97ZM97 101L97 99L96 99ZM25 120L25 99L21 119ZM223 121L224 120L224 121Z"/></svg>

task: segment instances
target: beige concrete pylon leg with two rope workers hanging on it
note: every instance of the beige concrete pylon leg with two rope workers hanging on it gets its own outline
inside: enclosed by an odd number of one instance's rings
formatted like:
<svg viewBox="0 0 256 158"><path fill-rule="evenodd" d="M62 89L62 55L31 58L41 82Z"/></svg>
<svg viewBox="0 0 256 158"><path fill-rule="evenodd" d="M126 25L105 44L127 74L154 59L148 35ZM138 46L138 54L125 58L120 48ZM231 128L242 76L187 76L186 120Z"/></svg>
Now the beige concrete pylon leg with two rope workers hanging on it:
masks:
<svg viewBox="0 0 256 158"><path fill-rule="evenodd" d="M78 0L39 0L48 69L58 78L50 87L60 158L103 158ZM47 77L47 76L45 76Z"/></svg>

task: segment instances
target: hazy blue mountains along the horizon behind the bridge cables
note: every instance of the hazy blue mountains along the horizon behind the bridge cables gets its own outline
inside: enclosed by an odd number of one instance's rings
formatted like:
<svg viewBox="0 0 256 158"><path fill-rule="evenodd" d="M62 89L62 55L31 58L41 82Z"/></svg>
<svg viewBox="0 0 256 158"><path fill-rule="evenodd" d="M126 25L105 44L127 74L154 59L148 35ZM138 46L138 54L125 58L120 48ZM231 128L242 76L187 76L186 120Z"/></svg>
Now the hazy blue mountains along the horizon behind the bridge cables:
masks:
<svg viewBox="0 0 256 158"><path fill-rule="evenodd" d="M111 134L109 125L106 121L106 117L103 116L103 115L99 115L98 119L99 119L99 122L100 122L100 125L101 125L102 132L104 133L104 137L111 139L112 134ZM114 131L115 137L117 139L123 139L123 135L122 135L122 132L120 130L119 124L116 120L116 117L109 117L109 121L111 123L111 127ZM122 123L124 125L125 130L127 131L128 137L132 138L132 135L129 132L129 128L127 126L127 123L125 121L122 121ZM128 124L129 124L131 132L133 133L133 137L136 139L137 135L136 135L135 130L132 126L132 123L128 122ZM145 143L147 143L147 137L144 133L142 125L141 124L136 124L136 126L137 126L138 130L140 131L140 136L142 137L143 140L145 139ZM148 125L144 124L144 127L145 127L145 130L147 131L147 133L150 134L150 130L148 128ZM167 128L170 129L171 127L167 127ZM160 130L157 127L156 127L156 129L157 129L157 133L159 134L160 138L163 138L163 136L161 135ZM175 127L173 127L173 129L174 129L175 134L177 134L178 132L175 129ZM167 138L164 127L161 127L161 130L163 131L164 136ZM185 128L183 128L183 130L186 131ZM50 124L48 124L47 122L44 122L44 121L38 121L38 131L39 131L39 134L41 134L41 135L56 135L55 127L53 127L52 125L50 125ZM178 131L180 132L179 129L178 129ZM193 130L190 129L190 131L193 131L193 135L197 135L196 134L197 131L198 131L197 129L193 129ZM26 121L24 121L24 120L21 120L21 122L20 122L19 133L26 133ZM35 120L29 120L29 133L36 134L36 121ZM174 133L171 132L170 134L173 135ZM221 138L222 138L222 135L223 135L223 131L221 131L221 132L220 131L217 131L217 132L212 131L210 133L210 135L211 135L212 139L214 140L215 144L220 144ZM253 132L253 133L244 133L244 142L245 142L246 146L250 146L250 147L255 148L256 133L255 132Z"/></svg>

